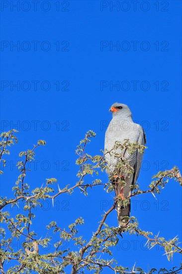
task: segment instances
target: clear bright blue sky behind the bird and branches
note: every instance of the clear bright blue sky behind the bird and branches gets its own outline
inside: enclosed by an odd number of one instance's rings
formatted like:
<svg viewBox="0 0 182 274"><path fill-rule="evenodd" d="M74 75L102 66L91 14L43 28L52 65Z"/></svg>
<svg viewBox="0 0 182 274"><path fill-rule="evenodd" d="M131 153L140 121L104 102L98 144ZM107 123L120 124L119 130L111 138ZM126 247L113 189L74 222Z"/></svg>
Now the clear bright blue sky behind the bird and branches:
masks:
<svg viewBox="0 0 182 274"><path fill-rule="evenodd" d="M181 168L181 1L117 1L117 7L116 1L18 2L1 1L1 131L19 131L1 195L11 197L18 153L38 139L47 144L37 149L27 178L31 189L50 177L60 187L74 185L76 146L92 130L96 137L88 151L103 149L108 110L115 102L127 104L146 132L148 148L138 178L142 188L159 170ZM106 173L99 178L107 182ZM82 216L80 233L89 239L113 196L102 187L89 190L87 197L78 190L60 195L56 207L48 202L37 211L33 229L40 238L46 235L40 222L44 227L57 220L66 228ZM157 202L151 194L133 200L131 215L146 231L181 238L181 197L180 186L171 181ZM117 226L116 213L108 224ZM168 262L164 251L146 251L144 240L124 235L113 249L118 264L136 262L146 271L179 265L180 256Z"/></svg>

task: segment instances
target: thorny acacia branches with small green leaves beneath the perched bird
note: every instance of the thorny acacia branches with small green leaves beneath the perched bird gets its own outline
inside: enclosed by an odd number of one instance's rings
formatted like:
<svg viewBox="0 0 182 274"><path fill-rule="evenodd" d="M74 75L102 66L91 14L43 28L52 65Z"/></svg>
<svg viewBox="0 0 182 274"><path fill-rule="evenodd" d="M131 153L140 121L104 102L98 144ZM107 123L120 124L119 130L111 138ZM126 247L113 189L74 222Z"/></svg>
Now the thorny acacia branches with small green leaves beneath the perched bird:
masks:
<svg viewBox="0 0 182 274"><path fill-rule="evenodd" d="M15 137L16 131L10 130L9 132L1 134L0 140L0 161L5 166L6 161L3 159L4 154L9 154L8 146L17 143ZM101 182L100 179L94 179L92 183L87 183L87 177L89 174L95 176L99 174L99 171L104 171L106 168L105 154L114 152L118 147L122 151L128 151L133 153L136 149L141 152L145 147L138 143L130 143L128 140L121 144L115 143L113 151L103 151L101 155L91 156L86 153L87 144L91 141L91 138L95 137L92 131L86 134L86 137L81 140L78 145L76 154L78 155L77 164L79 165L78 181L73 185L66 185L63 189L60 189L55 178L46 179L45 186L35 188L33 191L29 191L29 185L26 183L26 177L28 171L30 171L28 163L34 160L35 150L40 145L45 145L44 140L39 140L32 149L22 151L19 153L21 160L17 161L17 167L19 169L19 176L12 188L13 197L8 199L7 197L0 198L0 222L2 223L0 228L0 270L4 274L4 263L9 264L7 274L10 273L66 273L65 268L72 266L72 274L82 273L87 271L95 274L99 274L104 269L111 269L113 273L145 273L140 268L132 267L131 269L122 267L117 264L116 260L110 260L111 247L117 245L119 237L124 233L137 234L138 236L147 239L148 248L152 248L159 245L165 249L168 260L170 260L174 253L182 253L182 248L179 246L178 238L172 240L166 240L163 237L152 236L151 232L143 231L137 222L135 217L126 217L126 225L122 228L109 227L107 222L108 215L116 208L116 204L120 203L125 206L128 204L129 199L133 196L145 195L145 193L151 192L154 196L155 193L160 194L161 189L165 187L169 179L174 179L182 185L182 177L177 167L173 167L171 170L160 171L157 175L153 176L153 181L149 184L146 190L141 190L139 184L134 186L131 195L122 200L120 197L116 197L113 201L113 205L110 209L101 216L101 220L95 233L91 234L89 241L83 239L79 234L79 225L84 224L82 217L79 217L73 224L70 224L68 229L60 227L57 222L52 221L47 225L45 230L51 231L54 234L59 235L59 241L54 244L55 250L52 253L39 254L39 246L47 247L51 243L51 237L45 237L44 239L36 238L36 231L31 229L33 219L35 216L35 209L42 205L42 201L51 199L54 205L54 199L58 195L64 195L65 193L73 194L74 189L79 188L81 192L87 195L88 188L94 189L95 186L100 185L104 187L107 192L113 190L112 176L109 177L107 183ZM124 152L124 153L125 153ZM117 156L117 153L115 154ZM133 169L129 163L120 158L118 161L118 170L124 170L128 176L133 173ZM3 172L0 171L2 174ZM113 174L114 175L114 174ZM120 178L119 183L124 186L124 181ZM57 184L57 186L56 186ZM56 191L58 189L58 192ZM94 191L94 190L92 190ZM16 206L17 201L24 202L24 208L21 213L17 214L13 218L10 212L7 210L7 206ZM14 250L11 247L13 239L22 241L22 248ZM73 242L75 248L73 250L62 249L60 247L63 242ZM108 259L100 259L100 252L108 256ZM15 264L11 264L11 262ZM182 264L174 267L172 270L161 269L162 273L179 273L182 270ZM148 274L157 272L156 269L151 269Z"/></svg>

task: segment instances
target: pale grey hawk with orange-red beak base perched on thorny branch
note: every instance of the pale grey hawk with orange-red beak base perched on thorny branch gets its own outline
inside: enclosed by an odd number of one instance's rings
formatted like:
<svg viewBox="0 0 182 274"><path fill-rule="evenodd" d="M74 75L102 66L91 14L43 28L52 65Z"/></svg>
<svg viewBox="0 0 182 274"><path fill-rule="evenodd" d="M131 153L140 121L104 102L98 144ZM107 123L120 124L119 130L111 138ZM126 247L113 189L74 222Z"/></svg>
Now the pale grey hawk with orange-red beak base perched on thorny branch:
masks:
<svg viewBox="0 0 182 274"><path fill-rule="evenodd" d="M132 120L132 114L127 105L115 103L111 106L109 111L112 112L112 120L107 128L105 133L105 152L112 150L116 141L119 141L123 144L124 140L128 139L131 143L138 142L139 144L145 145L146 136L143 128L135 124ZM109 175L112 175L114 171L116 171L116 166L118 163L118 158L123 156L123 151L120 147L117 148L118 157L114 156L112 152L105 154L105 159L107 162L107 172ZM135 150L132 154L126 151L124 158L129 162L130 166L133 167L133 174L128 177L124 172L118 174L120 178L123 178L126 185L122 188L119 183L117 183L117 179L114 179L113 175L113 183L115 185L115 194L116 196L120 195L122 199L126 198L131 194L131 186L135 184L141 164L143 154L137 150ZM120 203L117 203L117 218L119 227L126 226L125 220L123 220L124 216L129 217L130 214L130 202L127 206L121 206Z"/></svg>

